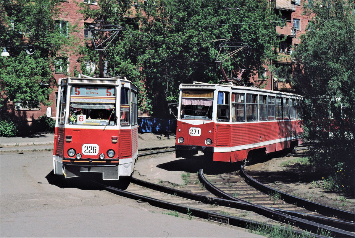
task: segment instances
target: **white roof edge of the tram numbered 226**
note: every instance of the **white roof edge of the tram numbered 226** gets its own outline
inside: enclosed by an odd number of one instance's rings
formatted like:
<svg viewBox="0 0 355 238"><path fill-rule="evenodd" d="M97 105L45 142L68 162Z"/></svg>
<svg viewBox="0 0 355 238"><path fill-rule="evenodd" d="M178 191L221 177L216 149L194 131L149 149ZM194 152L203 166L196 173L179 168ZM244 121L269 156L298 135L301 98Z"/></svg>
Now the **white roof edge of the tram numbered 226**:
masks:
<svg viewBox="0 0 355 238"><path fill-rule="evenodd" d="M81 77L83 76L83 77ZM66 81L65 81L66 80ZM59 85L63 84L91 84L91 85L119 85L124 83L130 83L135 86L130 80L127 80L124 76L117 76L112 78L93 78L86 75L79 75L79 77L61 78L58 81ZM136 87L136 86L135 86Z"/></svg>

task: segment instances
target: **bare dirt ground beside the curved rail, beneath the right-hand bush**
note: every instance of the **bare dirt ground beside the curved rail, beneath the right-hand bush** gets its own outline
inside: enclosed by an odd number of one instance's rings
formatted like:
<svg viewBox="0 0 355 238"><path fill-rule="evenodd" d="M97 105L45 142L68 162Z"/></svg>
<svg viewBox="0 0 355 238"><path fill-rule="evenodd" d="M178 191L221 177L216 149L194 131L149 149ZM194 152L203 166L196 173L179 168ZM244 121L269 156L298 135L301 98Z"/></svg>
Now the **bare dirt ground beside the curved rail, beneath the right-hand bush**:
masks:
<svg viewBox="0 0 355 238"><path fill-rule="evenodd" d="M338 209L355 212L355 199L326 191L320 172L299 162L304 153L274 154L262 161L247 164L249 175L279 191ZM298 160L298 161L297 161ZM287 165L286 165L287 164Z"/></svg>

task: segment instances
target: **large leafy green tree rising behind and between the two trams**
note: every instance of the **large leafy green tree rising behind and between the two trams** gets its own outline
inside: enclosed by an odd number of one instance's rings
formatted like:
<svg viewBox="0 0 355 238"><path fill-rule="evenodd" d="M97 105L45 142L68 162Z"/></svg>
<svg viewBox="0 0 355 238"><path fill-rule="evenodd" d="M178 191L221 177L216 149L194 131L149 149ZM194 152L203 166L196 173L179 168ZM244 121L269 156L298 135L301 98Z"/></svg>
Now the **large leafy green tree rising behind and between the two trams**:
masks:
<svg viewBox="0 0 355 238"><path fill-rule="evenodd" d="M246 69L246 81L261 69L278 44L275 26L281 24L280 17L267 1L148 0L133 10L131 5L127 8L126 1L98 4L99 10L84 9L83 13L129 29L115 48L108 49L114 51L109 53L113 55L110 65L141 83L141 108L156 116L166 113L162 108L167 108L167 103L177 102L180 83L218 83L222 79L215 63L218 44L238 41L251 47L250 56L240 51L223 62L229 77ZM137 12L135 22L123 17L127 10Z"/></svg>

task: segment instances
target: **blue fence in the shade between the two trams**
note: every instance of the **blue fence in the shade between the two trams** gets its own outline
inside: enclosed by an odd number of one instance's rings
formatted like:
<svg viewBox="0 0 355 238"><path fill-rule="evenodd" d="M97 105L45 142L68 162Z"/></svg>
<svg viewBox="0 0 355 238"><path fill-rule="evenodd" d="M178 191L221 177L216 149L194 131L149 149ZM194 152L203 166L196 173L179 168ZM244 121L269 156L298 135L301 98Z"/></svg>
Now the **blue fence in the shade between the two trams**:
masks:
<svg viewBox="0 0 355 238"><path fill-rule="evenodd" d="M161 119L154 117L138 118L138 132L153 132L153 133L166 133L176 132L176 120Z"/></svg>

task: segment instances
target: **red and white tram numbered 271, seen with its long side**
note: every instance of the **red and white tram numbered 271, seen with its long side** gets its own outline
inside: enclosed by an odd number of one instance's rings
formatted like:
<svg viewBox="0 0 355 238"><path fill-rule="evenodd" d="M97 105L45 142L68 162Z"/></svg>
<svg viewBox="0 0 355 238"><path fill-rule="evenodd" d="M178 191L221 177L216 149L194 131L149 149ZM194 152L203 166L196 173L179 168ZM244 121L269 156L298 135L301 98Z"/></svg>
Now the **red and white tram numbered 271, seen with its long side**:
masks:
<svg viewBox="0 0 355 238"><path fill-rule="evenodd" d="M199 151L214 161L245 160L250 152L298 145L303 131L295 104L302 97L228 84L181 84L176 158Z"/></svg>

